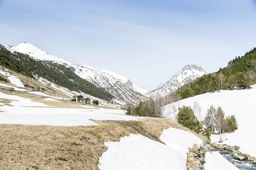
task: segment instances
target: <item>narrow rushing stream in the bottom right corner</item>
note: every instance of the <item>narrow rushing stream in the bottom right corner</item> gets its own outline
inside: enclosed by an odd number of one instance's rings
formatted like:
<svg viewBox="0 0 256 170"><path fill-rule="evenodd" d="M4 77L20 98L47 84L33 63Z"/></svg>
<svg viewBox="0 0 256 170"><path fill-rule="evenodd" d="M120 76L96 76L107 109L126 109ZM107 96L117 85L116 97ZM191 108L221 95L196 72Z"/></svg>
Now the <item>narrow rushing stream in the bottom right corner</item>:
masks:
<svg viewBox="0 0 256 170"><path fill-rule="evenodd" d="M224 158L226 158L240 170L256 170L256 164L253 164L248 160L239 161L235 156L233 156L233 153L228 150L214 149L214 151L220 153L222 156L224 156Z"/></svg>

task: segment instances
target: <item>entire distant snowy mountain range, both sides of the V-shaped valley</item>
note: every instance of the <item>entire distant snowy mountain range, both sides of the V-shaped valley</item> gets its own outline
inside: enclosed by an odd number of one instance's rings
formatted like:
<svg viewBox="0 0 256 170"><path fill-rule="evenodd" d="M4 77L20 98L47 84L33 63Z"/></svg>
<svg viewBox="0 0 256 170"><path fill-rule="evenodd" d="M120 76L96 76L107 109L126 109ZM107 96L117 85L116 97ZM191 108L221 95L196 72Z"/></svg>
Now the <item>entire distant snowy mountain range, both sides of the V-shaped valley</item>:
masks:
<svg viewBox="0 0 256 170"><path fill-rule="evenodd" d="M48 54L45 51L40 50L32 44L23 42L16 46L4 45L9 51L17 51L20 53L28 54L30 57L38 60L48 60L64 65L69 68L79 77L86 79L93 83L97 87L105 89L113 96L116 100L126 103L138 103L144 101L149 96L165 96L170 92L173 92L180 88L185 83L191 82L194 79L201 77L206 72L196 65L186 65L171 79L162 82L160 85L145 90L134 85L131 80L122 75L113 73L108 70L99 70L92 68L87 65L76 65L71 62L67 62L64 59Z"/></svg>

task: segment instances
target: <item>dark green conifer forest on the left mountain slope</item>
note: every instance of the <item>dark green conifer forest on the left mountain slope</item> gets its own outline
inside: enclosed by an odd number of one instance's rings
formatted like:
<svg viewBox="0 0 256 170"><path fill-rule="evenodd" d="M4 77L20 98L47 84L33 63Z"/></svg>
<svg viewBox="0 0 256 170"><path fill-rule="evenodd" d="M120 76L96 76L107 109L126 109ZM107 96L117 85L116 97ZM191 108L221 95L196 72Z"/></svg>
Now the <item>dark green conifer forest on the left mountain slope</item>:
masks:
<svg viewBox="0 0 256 170"><path fill-rule="evenodd" d="M12 53L3 45L0 45L0 65L27 77L35 78L34 75L42 77L70 91L81 91L108 101L114 97L103 88L96 87L91 82L82 79L64 65L46 60L36 60L27 54ZM5 79L1 78L1 80Z"/></svg>

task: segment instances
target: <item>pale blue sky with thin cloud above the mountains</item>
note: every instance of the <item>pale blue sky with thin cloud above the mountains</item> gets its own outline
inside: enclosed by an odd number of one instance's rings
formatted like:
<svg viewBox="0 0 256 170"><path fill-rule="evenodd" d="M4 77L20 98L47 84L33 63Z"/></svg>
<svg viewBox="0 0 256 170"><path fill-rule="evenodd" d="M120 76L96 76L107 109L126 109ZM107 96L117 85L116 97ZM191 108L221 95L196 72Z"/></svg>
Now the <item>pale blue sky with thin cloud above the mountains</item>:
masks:
<svg viewBox="0 0 256 170"><path fill-rule="evenodd" d="M255 0L0 0L0 43L29 42L140 88L256 47Z"/></svg>

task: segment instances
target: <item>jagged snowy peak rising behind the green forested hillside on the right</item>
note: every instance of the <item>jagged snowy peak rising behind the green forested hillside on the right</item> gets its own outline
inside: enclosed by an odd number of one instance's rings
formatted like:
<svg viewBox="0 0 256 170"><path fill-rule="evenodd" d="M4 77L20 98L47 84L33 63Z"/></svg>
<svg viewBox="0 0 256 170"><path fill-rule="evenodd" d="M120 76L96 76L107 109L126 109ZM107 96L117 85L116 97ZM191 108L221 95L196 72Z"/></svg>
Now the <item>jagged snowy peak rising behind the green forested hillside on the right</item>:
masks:
<svg viewBox="0 0 256 170"><path fill-rule="evenodd" d="M206 72L196 65L186 65L182 68L177 74L175 74L171 79L162 82L160 85L157 85L149 89L145 96L166 96L171 92L177 90L181 86L185 85L188 82L192 82L198 77L203 76Z"/></svg>

